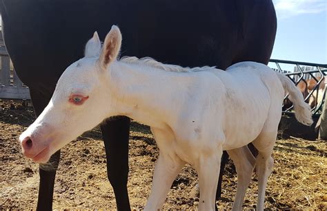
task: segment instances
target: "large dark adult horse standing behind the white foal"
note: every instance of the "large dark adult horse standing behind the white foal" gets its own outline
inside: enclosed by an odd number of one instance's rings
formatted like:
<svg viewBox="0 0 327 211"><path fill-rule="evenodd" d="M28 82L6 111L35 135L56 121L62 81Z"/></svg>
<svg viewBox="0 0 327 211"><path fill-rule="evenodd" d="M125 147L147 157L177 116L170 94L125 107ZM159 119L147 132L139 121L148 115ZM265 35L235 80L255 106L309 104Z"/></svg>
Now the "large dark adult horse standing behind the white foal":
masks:
<svg viewBox="0 0 327 211"><path fill-rule="evenodd" d="M112 24L123 32L123 56L219 69L244 60L268 63L277 27L271 0L2 0L0 9L8 53L19 78L30 87L37 115L48 104L62 72L83 56L88 38L97 31L103 40ZM108 179L119 210L130 209L129 124L128 118L119 118L101 125ZM59 155L55 153L52 162L58 164ZM39 210L52 208L56 168L40 168ZM221 177L218 196L220 186Z"/></svg>

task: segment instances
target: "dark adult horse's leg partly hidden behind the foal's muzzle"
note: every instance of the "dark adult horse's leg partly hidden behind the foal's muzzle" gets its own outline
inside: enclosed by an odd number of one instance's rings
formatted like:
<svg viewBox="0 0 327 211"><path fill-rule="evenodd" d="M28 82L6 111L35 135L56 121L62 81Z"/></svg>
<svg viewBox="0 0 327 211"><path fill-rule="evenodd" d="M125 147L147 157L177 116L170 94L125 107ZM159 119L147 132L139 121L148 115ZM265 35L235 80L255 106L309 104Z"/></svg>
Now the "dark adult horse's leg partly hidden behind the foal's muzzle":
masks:
<svg viewBox="0 0 327 211"><path fill-rule="evenodd" d="M32 98L35 115L39 116L50 101L51 95L43 94L30 87L30 97ZM39 165L40 183L37 210L52 210L54 178L56 177L59 159L60 151L57 151L50 157L47 164Z"/></svg>

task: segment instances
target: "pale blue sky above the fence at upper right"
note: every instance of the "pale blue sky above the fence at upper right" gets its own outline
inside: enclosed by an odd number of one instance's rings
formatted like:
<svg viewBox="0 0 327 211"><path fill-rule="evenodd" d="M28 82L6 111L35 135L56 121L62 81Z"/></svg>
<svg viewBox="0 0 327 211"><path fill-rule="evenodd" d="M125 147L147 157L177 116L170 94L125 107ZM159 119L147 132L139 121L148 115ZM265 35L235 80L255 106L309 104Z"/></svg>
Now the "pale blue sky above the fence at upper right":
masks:
<svg viewBox="0 0 327 211"><path fill-rule="evenodd" d="M327 0L273 0L277 35L271 58L327 64Z"/></svg>

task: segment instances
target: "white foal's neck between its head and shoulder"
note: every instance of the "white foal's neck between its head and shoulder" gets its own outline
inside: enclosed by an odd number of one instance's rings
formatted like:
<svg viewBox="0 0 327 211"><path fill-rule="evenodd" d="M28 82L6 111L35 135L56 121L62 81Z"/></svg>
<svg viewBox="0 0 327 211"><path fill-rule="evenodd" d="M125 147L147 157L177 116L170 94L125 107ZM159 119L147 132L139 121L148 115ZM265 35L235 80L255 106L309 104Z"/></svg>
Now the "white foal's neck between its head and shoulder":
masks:
<svg viewBox="0 0 327 211"><path fill-rule="evenodd" d="M175 75L146 65L112 64L110 91L115 96L115 115L126 115L156 128L166 126L174 108Z"/></svg>

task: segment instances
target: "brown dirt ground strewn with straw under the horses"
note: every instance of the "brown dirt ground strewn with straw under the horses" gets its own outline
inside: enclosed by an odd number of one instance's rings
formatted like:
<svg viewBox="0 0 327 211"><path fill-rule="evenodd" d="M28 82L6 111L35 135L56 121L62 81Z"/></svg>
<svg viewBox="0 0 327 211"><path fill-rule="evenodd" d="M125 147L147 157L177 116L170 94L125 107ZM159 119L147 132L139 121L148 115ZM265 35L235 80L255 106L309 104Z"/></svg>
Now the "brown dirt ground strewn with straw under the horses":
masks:
<svg viewBox="0 0 327 211"><path fill-rule="evenodd" d="M37 204L38 165L21 154L18 137L34 120L23 101L0 100L0 210L33 209ZM132 122L128 192L132 208L143 208L150 193L158 148L147 126ZM266 208L327 209L326 142L298 138L278 140L275 166L268 180ZM228 164L223 194L217 205L231 208L236 192L235 170ZM165 209L197 207L197 173L183 168L169 192ZM244 208L255 208L257 176L252 181ZM115 209L115 195L106 176L106 156L99 129L85 133L62 149L54 186L53 208Z"/></svg>

